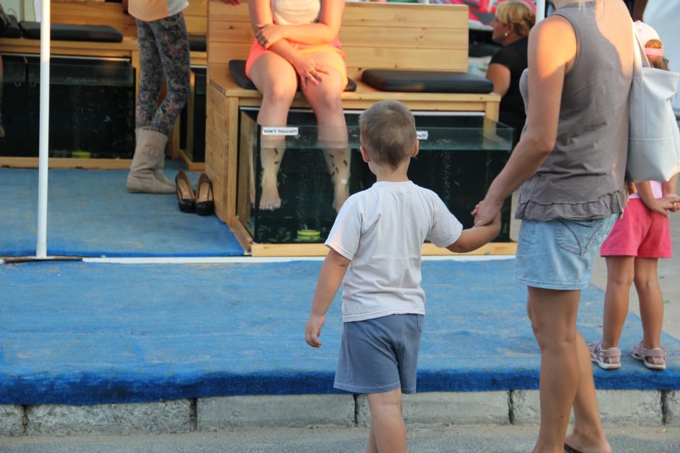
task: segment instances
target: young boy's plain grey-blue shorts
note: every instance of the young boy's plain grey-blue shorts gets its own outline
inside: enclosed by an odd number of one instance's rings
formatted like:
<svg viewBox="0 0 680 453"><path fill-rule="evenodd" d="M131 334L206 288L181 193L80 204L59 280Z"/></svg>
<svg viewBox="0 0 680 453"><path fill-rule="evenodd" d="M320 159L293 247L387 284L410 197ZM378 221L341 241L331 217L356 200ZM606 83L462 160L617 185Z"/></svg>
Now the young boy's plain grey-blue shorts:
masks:
<svg viewBox="0 0 680 453"><path fill-rule="evenodd" d="M344 323L334 387L354 394L416 393L421 314Z"/></svg>

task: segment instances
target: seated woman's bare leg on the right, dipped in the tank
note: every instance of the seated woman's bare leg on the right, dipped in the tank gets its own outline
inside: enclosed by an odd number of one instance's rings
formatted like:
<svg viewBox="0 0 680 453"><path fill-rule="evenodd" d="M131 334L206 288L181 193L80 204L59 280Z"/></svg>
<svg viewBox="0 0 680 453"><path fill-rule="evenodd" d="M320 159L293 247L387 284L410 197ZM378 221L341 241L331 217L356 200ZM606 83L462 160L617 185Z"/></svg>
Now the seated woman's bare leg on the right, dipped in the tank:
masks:
<svg viewBox="0 0 680 453"><path fill-rule="evenodd" d="M329 74L324 74L323 81L309 84L303 91L312 110L317 115L319 125L319 144L324 149L324 156L331 180L334 185L333 207L339 211L349 196L349 164L351 152L347 144L347 125L342 111L340 94L344 91L344 79L334 69L333 59L341 59L336 53L314 54L314 58L326 59Z"/></svg>

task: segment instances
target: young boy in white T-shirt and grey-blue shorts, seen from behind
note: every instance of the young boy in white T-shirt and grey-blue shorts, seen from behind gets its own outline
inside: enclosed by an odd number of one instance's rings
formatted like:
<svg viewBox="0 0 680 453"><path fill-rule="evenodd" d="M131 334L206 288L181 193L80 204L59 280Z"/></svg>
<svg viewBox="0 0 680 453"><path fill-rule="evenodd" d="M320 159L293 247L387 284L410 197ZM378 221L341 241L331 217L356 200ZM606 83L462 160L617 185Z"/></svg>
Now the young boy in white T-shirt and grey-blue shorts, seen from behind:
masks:
<svg viewBox="0 0 680 453"><path fill-rule="evenodd" d="M453 252L475 250L498 235L500 218L463 230L436 193L409 181L419 143L406 105L375 103L359 117L359 130L361 156L378 182L349 197L338 213L305 341L321 346L326 312L342 282L344 329L334 387L368 398L366 452L406 452L402 393L416 391L425 314L421 246L427 238Z"/></svg>

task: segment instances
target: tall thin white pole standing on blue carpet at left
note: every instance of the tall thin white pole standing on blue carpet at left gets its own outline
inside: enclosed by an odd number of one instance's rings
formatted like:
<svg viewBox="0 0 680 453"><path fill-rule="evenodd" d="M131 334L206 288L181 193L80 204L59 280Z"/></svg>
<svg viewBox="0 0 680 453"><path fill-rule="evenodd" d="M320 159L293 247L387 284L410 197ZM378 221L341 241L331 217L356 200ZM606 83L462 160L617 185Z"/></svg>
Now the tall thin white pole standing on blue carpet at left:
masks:
<svg viewBox="0 0 680 453"><path fill-rule="evenodd" d="M38 159L38 243L35 256L47 258L47 168L50 153L50 0L40 11L40 157Z"/></svg>

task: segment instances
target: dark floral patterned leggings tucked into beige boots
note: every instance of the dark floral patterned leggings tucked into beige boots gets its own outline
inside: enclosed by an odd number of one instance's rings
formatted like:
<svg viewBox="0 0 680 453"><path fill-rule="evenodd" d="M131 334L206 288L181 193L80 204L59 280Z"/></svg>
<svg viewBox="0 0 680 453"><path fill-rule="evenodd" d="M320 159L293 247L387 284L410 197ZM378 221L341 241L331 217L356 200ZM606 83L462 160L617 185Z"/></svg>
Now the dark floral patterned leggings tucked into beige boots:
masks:
<svg viewBox="0 0 680 453"><path fill-rule="evenodd" d="M135 127L169 135L177 115L189 96L189 40L184 14L158 21L137 21L140 43L140 96L135 109ZM167 81L161 105L158 97Z"/></svg>

